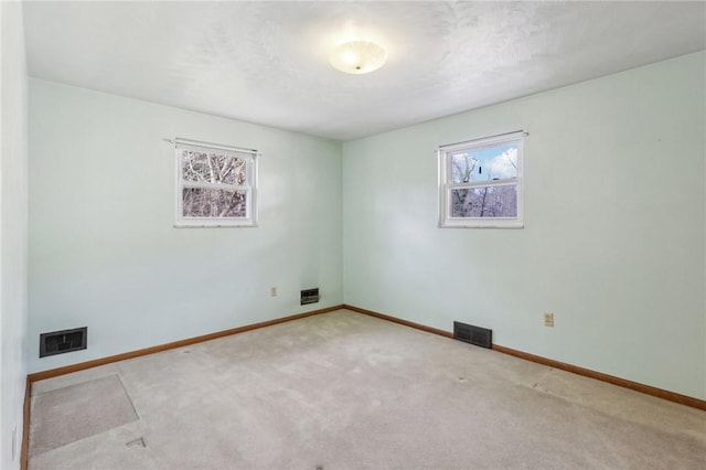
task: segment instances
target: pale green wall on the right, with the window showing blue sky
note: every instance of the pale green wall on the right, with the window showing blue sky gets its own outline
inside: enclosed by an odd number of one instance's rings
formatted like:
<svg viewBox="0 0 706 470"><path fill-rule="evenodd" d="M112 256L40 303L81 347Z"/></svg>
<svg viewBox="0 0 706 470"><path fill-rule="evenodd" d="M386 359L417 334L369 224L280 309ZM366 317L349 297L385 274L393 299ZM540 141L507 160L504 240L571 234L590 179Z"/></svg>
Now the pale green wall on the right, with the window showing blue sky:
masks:
<svg viewBox="0 0 706 470"><path fill-rule="evenodd" d="M344 143L344 301L706 398L705 83L691 54ZM437 228L435 148L518 129L525 228Z"/></svg>

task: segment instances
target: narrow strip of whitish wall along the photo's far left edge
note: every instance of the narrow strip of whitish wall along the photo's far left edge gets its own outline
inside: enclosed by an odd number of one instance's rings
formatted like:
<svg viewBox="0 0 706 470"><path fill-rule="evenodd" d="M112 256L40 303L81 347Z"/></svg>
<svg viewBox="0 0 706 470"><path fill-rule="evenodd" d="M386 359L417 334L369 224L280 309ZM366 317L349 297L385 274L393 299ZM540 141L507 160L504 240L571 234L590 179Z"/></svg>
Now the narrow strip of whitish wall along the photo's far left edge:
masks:
<svg viewBox="0 0 706 470"><path fill-rule="evenodd" d="M0 2L0 468L10 470L20 468L28 362L28 84L20 2Z"/></svg>

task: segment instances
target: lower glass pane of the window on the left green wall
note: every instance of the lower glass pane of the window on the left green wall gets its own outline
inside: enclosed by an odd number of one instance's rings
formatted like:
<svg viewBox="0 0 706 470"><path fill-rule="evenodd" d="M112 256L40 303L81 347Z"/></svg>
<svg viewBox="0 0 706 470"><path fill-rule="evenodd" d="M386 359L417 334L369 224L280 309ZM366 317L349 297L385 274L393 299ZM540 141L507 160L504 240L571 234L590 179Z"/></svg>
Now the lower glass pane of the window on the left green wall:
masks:
<svg viewBox="0 0 706 470"><path fill-rule="evenodd" d="M234 191L184 188L184 217L246 217L247 195Z"/></svg>

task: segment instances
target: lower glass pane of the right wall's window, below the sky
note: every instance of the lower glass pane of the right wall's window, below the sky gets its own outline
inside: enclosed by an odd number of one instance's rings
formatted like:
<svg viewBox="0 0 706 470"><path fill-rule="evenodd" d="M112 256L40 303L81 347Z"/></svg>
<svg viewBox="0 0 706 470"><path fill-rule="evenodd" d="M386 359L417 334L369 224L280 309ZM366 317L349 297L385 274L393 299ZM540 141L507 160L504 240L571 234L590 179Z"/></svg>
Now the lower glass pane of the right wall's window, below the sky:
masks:
<svg viewBox="0 0 706 470"><path fill-rule="evenodd" d="M451 190L451 217L516 217L517 185Z"/></svg>

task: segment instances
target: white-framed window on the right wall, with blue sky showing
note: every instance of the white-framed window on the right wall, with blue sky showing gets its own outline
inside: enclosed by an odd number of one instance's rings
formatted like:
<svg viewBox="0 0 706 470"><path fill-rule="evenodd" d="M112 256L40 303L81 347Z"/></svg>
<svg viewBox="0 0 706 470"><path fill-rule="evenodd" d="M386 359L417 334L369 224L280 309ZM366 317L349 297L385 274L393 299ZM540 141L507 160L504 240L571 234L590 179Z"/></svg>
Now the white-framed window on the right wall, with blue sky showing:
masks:
<svg viewBox="0 0 706 470"><path fill-rule="evenodd" d="M524 131L439 147L440 227L522 227Z"/></svg>

